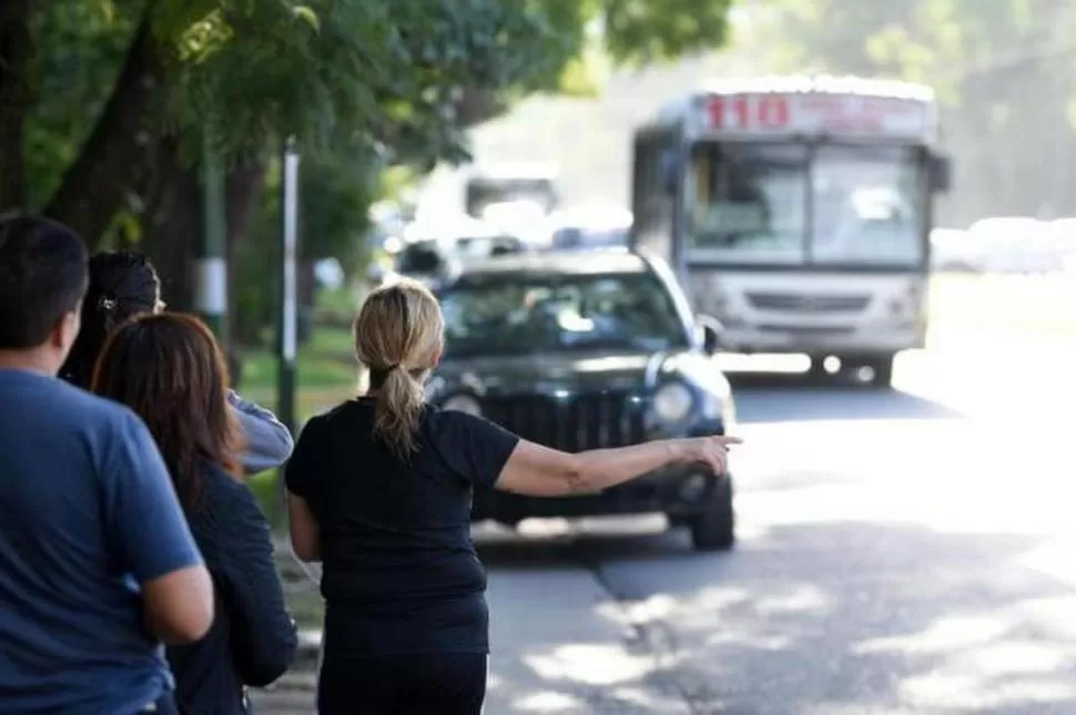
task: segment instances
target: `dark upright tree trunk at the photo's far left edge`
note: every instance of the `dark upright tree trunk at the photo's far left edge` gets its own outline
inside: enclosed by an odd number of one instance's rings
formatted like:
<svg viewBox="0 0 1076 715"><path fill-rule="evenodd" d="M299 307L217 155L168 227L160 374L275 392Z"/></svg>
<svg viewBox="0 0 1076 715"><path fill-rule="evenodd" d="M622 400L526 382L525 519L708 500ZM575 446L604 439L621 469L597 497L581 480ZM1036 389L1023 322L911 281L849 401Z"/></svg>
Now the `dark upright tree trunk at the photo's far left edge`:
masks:
<svg viewBox="0 0 1076 715"><path fill-rule="evenodd" d="M31 49L30 0L0 1L0 214L26 203L22 139Z"/></svg>

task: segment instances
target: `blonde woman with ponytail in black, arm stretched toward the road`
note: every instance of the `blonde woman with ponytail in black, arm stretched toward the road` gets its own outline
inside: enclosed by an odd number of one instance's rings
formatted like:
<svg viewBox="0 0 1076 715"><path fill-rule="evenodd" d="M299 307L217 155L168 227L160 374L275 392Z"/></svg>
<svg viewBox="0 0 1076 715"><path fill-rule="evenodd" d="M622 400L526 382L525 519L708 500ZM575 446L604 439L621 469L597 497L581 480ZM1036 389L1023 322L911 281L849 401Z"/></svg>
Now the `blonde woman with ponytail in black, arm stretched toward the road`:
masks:
<svg viewBox="0 0 1076 715"><path fill-rule="evenodd" d="M287 464L295 554L323 564L322 715L478 715L486 574L470 538L475 487L560 497L673 462L725 471L734 437L568 454L423 401L443 350L440 306L412 282L373 292L355 320L369 389L315 417Z"/></svg>

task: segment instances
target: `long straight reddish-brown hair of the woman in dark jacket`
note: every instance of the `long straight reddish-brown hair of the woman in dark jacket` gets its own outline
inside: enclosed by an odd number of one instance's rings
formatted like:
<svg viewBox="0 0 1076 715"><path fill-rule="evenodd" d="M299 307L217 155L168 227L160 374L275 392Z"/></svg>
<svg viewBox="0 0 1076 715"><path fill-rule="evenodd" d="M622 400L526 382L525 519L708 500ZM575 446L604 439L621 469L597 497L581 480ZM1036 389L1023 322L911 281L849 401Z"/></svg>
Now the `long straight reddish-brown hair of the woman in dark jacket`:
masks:
<svg viewBox="0 0 1076 715"><path fill-rule="evenodd" d="M150 428L187 511L202 492L200 462L241 473L227 387L213 334L177 313L142 315L115 328L93 375L94 392L126 405Z"/></svg>

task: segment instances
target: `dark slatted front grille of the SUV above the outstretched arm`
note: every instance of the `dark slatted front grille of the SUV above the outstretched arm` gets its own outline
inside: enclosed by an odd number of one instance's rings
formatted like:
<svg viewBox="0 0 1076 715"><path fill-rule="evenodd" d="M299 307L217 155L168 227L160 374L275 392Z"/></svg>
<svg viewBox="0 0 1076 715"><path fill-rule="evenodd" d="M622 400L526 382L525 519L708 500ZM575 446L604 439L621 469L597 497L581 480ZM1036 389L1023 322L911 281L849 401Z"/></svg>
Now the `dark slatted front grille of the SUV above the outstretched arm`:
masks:
<svg viewBox="0 0 1076 715"><path fill-rule="evenodd" d="M485 417L519 437L569 452L646 441L643 402L627 392L483 400Z"/></svg>

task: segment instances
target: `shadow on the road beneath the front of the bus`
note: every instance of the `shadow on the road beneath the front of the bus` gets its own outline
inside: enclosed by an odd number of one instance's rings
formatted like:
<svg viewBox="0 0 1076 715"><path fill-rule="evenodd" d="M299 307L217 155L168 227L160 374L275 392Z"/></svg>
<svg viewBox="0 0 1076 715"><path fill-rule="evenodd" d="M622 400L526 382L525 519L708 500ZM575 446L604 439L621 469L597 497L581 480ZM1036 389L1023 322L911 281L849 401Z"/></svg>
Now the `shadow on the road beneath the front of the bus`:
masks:
<svg viewBox="0 0 1076 715"><path fill-rule="evenodd" d="M810 384L803 375L729 372L741 422L803 420L958 419L963 413L895 389L849 380Z"/></svg>

